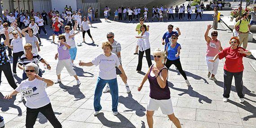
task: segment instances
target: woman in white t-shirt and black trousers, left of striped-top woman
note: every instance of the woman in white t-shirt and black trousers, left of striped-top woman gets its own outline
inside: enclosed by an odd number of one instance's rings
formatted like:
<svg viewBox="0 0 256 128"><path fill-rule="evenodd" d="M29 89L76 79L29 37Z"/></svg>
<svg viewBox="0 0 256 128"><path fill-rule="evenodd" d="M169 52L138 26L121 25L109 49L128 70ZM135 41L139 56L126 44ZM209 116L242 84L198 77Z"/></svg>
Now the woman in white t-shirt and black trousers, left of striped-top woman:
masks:
<svg viewBox="0 0 256 128"><path fill-rule="evenodd" d="M19 29L19 28L18 28ZM22 44L22 35L21 30L17 29L17 26L15 30L12 32L13 34L13 40L11 41L11 44L8 44L8 47L13 49L13 75L16 75L16 67L18 63L18 58L21 57L24 54L23 44Z"/></svg>

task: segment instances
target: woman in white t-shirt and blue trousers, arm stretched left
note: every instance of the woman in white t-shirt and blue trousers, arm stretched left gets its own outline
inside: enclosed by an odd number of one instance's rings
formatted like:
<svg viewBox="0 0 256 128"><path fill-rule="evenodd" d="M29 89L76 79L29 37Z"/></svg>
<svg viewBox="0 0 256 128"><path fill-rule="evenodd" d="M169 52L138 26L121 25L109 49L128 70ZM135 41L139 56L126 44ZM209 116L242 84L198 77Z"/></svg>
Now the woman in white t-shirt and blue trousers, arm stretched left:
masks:
<svg viewBox="0 0 256 128"><path fill-rule="evenodd" d="M79 66L98 66L99 65L99 76L97 78L97 84L94 93L94 115L97 115L99 111L102 109L100 99L102 96L102 90L105 87L106 83L110 85L110 93L112 97L112 111L114 115L118 115L117 105L118 105L118 84L116 80L116 66L124 75L124 79L127 80L127 76L125 75L124 69L119 62L118 57L111 53L112 46L110 42L102 43L102 54L98 55L93 59L92 62L79 62Z"/></svg>

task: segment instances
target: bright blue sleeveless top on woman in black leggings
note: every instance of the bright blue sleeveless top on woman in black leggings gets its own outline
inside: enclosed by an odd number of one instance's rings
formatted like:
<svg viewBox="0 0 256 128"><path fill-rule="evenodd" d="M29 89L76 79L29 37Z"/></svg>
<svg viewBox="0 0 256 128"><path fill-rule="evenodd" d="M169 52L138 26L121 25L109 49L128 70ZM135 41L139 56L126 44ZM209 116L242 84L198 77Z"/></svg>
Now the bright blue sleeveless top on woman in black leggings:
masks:
<svg viewBox="0 0 256 128"><path fill-rule="evenodd" d="M168 55L167 58L171 61L173 60L177 60L178 58L180 58L180 56L175 57L175 55L178 53L178 47L181 47L181 44L176 43L176 46L174 48L171 47L171 43L167 44L167 51L168 51Z"/></svg>

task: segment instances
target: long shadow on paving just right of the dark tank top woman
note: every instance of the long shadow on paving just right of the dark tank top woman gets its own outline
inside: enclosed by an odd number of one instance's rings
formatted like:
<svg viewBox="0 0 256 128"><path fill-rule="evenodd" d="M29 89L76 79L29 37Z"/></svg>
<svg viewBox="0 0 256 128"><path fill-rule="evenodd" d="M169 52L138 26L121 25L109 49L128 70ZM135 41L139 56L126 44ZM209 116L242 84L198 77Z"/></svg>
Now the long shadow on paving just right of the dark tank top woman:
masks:
<svg viewBox="0 0 256 128"><path fill-rule="evenodd" d="M212 103L212 100L211 100L211 99L209 99L208 97L203 96L203 95L201 95L200 93L194 91L191 86L189 86L188 89L175 88L174 85L173 85L171 82L169 82L169 81L168 81L168 86L169 86L170 88L174 89L174 90L183 92L183 93L178 94L179 96L182 96L182 95L184 95L184 94L188 94L190 97L199 98L199 99L198 99L198 102L201 103L201 104L203 104L202 101L207 102L207 103L209 103L209 104Z"/></svg>

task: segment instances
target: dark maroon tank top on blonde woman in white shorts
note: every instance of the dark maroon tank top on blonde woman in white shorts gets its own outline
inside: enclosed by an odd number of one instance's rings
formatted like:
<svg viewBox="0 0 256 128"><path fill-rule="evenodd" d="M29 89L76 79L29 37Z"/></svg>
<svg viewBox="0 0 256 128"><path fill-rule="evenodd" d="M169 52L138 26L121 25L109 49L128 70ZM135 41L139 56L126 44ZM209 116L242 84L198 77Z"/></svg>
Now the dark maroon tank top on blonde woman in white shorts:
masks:
<svg viewBox="0 0 256 128"><path fill-rule="evenodd" d="M157 83L157 78L156 76L151 76L150 73L152 71L154 65L151 66L150 72L148 74L148 79L150 83L150 98L156 99L156 100L167 100L170 99L170 89L168 88L168 80L166 79L166 86L164 88L161 88L159 84ZM167 67L163 67L158 75L162 72L163 69L167 69Z"/></svg>

